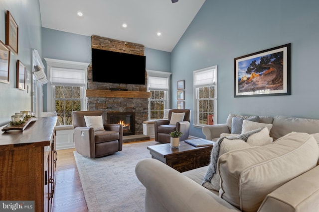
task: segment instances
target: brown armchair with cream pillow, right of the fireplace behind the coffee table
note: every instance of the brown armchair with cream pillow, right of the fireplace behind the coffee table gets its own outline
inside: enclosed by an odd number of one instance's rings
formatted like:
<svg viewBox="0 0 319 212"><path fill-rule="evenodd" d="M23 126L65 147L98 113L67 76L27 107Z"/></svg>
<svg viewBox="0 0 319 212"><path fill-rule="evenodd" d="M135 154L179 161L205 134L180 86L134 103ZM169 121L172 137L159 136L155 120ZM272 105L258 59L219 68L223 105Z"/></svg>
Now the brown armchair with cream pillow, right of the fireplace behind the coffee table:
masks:
<svg viewBox="0 0 319 212"><path fill-rule="evenodd" d="M168 111L168 120L157 120L154 122L155 141L169 143L169 133L175 130L183 133L183 135L179 137L179 141L185 141L189 136L189 127L190 110L170 109Z"/></svg>

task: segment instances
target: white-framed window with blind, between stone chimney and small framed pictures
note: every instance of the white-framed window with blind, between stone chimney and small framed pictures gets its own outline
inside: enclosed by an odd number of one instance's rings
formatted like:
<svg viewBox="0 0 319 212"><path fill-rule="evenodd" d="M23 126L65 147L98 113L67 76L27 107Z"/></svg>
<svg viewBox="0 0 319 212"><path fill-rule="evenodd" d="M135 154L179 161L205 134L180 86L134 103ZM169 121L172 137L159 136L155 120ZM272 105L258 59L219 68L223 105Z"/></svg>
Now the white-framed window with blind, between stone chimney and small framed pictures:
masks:
<svg viewBox="0 0 319 212"><path fill-rule="evenodd" d="M163 119L169 102L169 72L148 70L148 91L152 93L149 101L149 119Z"/></svg>

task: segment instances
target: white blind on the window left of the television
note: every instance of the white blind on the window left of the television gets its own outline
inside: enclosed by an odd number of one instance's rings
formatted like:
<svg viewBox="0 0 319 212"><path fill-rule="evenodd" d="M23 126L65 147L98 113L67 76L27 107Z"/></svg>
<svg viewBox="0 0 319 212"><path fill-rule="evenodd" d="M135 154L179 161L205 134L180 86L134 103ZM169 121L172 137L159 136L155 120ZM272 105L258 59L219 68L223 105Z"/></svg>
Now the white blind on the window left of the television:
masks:
<svg viewBox="0 0 319 212"><path fill-rule="evenodd" d="M85 86L84 70L51 68L51 84Z"/></svg>

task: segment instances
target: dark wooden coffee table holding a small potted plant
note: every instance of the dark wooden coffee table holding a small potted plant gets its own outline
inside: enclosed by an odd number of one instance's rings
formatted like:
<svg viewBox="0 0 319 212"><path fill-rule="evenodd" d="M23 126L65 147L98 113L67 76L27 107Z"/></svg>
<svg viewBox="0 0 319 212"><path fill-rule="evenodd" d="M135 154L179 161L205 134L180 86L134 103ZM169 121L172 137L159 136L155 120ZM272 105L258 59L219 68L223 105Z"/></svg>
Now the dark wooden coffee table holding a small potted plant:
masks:
<svg viewBox="0 0 319 212"><path fill-rule="evenodd" d="M184 172L208 165L212 147L195 147L180 141L179 148L171 148L169 143L164 143L148 146L148 149L152 158L160 160L179 172Z"/></svg>

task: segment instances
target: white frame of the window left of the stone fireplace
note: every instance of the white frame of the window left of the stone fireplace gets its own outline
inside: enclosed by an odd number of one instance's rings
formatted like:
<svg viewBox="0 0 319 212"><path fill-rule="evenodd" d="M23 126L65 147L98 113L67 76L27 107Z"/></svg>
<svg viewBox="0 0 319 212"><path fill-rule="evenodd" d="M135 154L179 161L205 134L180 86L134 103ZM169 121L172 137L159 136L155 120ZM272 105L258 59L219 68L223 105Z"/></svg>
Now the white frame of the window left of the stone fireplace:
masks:
<svg viewBox="0 0 319 212"><path fill-rule="evenodd" d="M61 68L61 69L72 69L72 70L79 70L84 71L84 86L81 86L81 110L87 110L87 101L86 101L86 88L87 88L87 69L90 64L88 63L81 63L81 62L73 62L73 61L64 61L64 60L57 60L57 59L50 59L44 58L46 61L46 70L47 70L47 88L46 88L46 96L47 96L47 111L55 111L55 103L54 103L54 96L55 96L55 89L54 85L52 85L51 81L51 70L52 68ZM70 86L65 84L65 86Z"/></svg>

